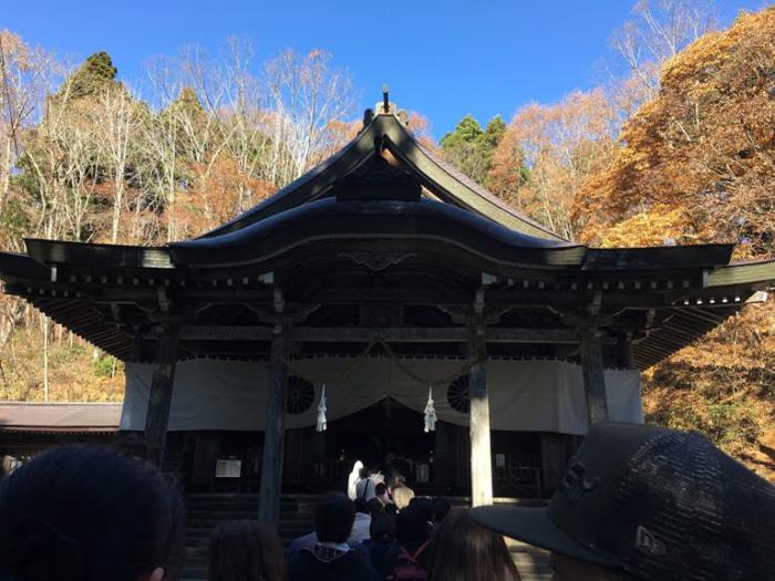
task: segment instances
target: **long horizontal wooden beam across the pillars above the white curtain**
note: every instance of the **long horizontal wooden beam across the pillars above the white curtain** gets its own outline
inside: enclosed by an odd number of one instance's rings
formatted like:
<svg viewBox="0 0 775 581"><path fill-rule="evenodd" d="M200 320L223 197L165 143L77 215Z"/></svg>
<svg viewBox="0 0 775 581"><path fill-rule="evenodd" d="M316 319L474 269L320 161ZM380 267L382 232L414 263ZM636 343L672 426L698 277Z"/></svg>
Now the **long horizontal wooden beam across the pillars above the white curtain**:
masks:
<svg viewBox="0 0 775 581"><path fill-rule="evenodd" d="M382 339L390 342L451 342L468 341L464 326L414 328L414 326L296 326L289 330L291 341L317 341L322 343L352 341L369 342ZM186 341L271 341L271 326L248 325L186 325L180 339ZM578 333L574 329L513 329L487 328L485 340L503 343L561 343L577 344ZM608 335L600 339L614 343Z"/></svg>

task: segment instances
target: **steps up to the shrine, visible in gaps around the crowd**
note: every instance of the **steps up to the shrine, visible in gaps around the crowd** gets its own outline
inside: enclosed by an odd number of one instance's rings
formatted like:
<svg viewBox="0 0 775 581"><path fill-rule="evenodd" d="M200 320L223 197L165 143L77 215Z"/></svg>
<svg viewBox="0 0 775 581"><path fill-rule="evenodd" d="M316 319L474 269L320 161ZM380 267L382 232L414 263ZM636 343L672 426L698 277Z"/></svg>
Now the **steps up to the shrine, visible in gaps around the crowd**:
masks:
<svg viewBox="0 0 775 581"><path fill-rule="evenodd" d="M313 529L313 512L317 500L317 495L282 496L279 533L286 546L291 540L307 535ZM463 506L465 500L451 499L454 506ZM257 513L258 495L188 495L186 498L186 562L182 579L185 581L207 579L207 540L218 522L255 519ZM546 551L510 539L507 539L507 544L523 581L549 581L551 579Z"/></svg>

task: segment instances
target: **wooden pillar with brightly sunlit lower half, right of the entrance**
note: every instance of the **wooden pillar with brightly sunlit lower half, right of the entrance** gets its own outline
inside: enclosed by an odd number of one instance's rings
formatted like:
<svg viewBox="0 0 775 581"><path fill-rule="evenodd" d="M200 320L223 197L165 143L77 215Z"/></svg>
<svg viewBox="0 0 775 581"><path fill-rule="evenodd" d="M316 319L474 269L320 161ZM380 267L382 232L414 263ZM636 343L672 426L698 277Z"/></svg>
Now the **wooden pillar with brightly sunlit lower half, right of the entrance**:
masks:
<svg viewBox="0 0 775 581"><path fill-rule="evenodd" d="M489 393L484 359L486 355L484 325L471 325L468 356L474 363L468 371L471 397L471 504L478 507L493 504L493 455L489 444Z"/></svg>

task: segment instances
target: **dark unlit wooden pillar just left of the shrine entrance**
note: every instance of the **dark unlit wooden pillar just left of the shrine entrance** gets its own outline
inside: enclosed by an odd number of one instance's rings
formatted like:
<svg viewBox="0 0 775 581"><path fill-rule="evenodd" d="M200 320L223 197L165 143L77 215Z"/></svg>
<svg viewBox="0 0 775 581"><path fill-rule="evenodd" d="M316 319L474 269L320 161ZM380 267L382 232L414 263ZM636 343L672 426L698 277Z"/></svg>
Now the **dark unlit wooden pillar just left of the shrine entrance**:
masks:
<svg viewBox="0 0 775 581"><path fill-rule="evenodd" d="M258 521L272 527L277 526L280 518L282 459L286 437L287 353L288 332L285 325L279 325L271 342L269 400L267 402L267 425L264 432L261 488L258 500Z"/></svg>

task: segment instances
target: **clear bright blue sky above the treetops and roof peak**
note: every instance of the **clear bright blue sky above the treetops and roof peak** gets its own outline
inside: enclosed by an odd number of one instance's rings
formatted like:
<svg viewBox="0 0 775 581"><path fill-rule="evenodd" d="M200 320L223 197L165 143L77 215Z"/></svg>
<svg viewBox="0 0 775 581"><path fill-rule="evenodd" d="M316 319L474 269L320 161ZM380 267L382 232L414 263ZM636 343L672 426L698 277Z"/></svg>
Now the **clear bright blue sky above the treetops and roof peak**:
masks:
<svg viewBox="0 0 775 581"><path fill-rule="evenodd" d="M633 1L44 0L6 7L0 28L78 60L106 51L131 82L156 55L194 43L217 51L231 34L251 39L258 62L287 48L327 49L352 75L359 108L379 101L386 82L438 138L467 113L508 121L520 105L598 84L608 39ZM715 6L727 25L765 3Z"/></svg>

